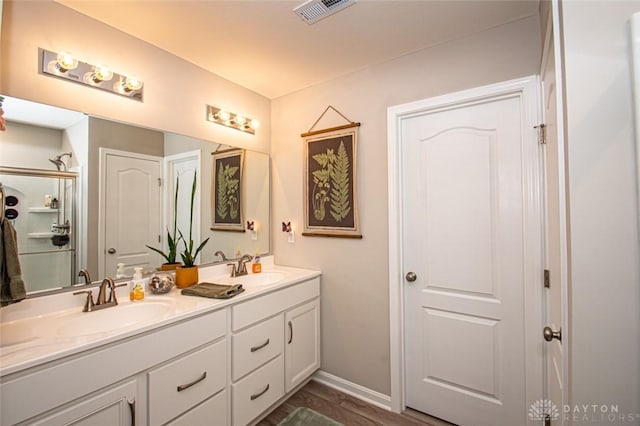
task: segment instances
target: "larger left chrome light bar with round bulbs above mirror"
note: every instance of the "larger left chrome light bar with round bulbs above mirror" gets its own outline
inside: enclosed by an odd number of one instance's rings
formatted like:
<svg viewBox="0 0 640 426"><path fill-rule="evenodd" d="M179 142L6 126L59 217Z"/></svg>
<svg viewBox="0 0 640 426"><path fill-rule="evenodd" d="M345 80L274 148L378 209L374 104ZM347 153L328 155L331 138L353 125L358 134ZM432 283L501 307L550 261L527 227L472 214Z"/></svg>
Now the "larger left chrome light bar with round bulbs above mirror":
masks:
<svg viewBox="0 0 640 426"><path fill-rule="evenodd" d="M143 83L134 77L118 74L103 65L79 61L66 52L39 49L43 74L102 89L142 101Z"/></svg>

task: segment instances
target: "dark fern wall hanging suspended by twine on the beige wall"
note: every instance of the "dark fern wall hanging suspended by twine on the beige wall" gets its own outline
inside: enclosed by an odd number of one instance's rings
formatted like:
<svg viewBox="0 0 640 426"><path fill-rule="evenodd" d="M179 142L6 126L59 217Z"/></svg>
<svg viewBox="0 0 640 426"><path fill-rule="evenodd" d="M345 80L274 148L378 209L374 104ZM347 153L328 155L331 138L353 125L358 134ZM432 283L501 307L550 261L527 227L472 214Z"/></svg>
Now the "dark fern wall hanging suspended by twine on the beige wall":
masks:
<svg viewBox="0 0 640 426"><path fill-rule="evenodd" d="M333 109L349 124L313 130ZM304 236L362 238L358 223L356 158L358 127L328 106L304 139Z"/></svg>

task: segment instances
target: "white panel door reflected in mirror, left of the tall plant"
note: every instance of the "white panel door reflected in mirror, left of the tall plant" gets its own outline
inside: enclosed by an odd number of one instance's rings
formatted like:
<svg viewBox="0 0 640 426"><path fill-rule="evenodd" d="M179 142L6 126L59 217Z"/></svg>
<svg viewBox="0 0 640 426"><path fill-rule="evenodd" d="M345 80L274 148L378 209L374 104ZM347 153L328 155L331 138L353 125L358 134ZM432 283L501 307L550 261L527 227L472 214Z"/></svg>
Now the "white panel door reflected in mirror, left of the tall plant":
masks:
<svg viewBox="0 0 640 426"><path fill-rule="evenodd" d="M133 268L156 267L159 256L146 245L160 245L161 159L134 153L109 152L104 158L106 176L104 266L100 276L116 274L124 263L129 275Z"/></svg>

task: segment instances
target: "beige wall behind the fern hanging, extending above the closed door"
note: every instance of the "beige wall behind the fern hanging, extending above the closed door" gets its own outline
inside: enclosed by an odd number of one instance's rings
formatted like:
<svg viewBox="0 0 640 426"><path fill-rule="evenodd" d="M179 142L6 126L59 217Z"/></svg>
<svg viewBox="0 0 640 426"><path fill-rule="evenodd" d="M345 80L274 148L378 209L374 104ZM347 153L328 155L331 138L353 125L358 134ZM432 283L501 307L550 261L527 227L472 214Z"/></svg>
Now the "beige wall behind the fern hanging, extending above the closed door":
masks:
<svg viewBox="0 0 640 426"><path fill-rule="evenodd" d="M322 270L322 369L388 395L387 108L536 74L540 35L527 18L275 99L272 102L276 262ZM327 105L359 121L358 203L363 239L302 237L302 150ZM318 128L341 123L335 115ZM296 241L279 231L283 220Z"/></svg>

